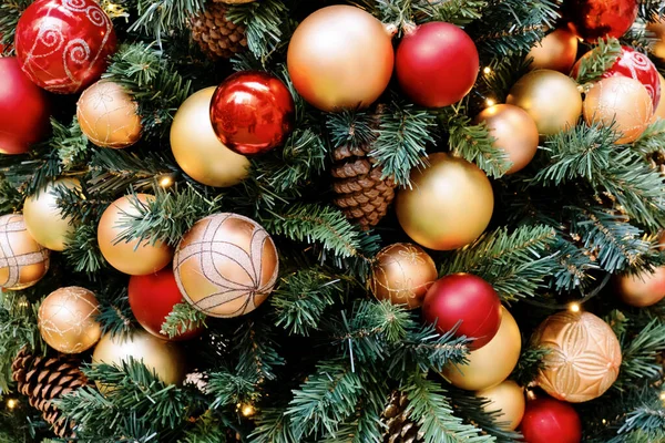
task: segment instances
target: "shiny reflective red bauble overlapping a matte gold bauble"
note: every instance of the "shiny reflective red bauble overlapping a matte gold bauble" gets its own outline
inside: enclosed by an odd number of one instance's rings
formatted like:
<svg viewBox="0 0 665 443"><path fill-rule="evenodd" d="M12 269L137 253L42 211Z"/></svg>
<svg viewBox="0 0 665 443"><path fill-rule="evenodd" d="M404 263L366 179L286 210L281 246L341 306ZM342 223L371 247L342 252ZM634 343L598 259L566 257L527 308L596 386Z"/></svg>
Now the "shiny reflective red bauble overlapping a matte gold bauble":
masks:
<svg viewBox="0 0 665 443"><path fill-rule="evenodd" d="M284 143L293 131L294 97L279 79L267 72L237 72L213 95L211 122L226 147L263 154Z"/></svg>

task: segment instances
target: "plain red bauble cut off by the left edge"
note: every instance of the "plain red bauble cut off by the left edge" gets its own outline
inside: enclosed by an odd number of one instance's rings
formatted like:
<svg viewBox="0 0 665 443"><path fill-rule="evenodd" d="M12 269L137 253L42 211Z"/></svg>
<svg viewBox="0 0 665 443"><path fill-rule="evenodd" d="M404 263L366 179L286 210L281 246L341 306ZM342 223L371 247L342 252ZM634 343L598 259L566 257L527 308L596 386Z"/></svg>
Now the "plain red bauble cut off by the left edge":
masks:
<svg viewBox="0 0 665 443"><path fill-rule="evenodd" d="M47 94L21 71L16 56L0 58L0 153L22 154L49 127Z"/></svg>

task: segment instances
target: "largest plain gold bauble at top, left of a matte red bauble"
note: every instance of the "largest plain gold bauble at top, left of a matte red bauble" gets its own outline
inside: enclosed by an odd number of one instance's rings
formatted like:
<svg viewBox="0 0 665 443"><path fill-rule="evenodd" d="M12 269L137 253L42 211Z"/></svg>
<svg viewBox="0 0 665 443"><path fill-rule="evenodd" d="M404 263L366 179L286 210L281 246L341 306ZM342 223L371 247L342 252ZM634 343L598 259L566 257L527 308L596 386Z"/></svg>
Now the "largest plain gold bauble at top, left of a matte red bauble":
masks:
<svg viewBox="0 0 665 443"><path fill-rule="evenodd" d="M359 8L317 10L288 44L287 68L296 91L321 111L368 107L392 75L392 33Z"/></svg>

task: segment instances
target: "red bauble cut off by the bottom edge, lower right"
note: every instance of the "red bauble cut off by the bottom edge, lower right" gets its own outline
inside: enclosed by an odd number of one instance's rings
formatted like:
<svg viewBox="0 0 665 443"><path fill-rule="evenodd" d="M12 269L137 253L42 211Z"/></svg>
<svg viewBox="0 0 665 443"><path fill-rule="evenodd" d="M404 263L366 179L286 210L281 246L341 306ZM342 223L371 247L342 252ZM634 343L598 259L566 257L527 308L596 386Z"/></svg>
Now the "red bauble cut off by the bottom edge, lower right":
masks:
<svg viewBox="0 0 665 443"><path fill-rule="evenodd" d="M520 425L528 443L580 443L582 423L569 403L542 398L526 402Z"/></svg>

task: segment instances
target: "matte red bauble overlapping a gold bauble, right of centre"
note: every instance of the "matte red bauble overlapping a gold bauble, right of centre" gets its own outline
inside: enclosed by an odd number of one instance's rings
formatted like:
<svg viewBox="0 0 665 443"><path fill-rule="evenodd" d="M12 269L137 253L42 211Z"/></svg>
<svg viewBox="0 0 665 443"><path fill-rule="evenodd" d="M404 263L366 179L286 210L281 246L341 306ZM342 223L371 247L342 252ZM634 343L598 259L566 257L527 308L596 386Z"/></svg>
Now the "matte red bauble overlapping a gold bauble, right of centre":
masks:
<svg viewBox="0 0 665 443"><path fill-rule="evenodd" d="M437 280L424 296L422 317L437 322L441 333L462 321L457 334L474 338L479 349L494 338L501 326L501 300L492 285L471 274L453 274Z"/></svg>

